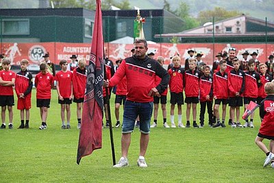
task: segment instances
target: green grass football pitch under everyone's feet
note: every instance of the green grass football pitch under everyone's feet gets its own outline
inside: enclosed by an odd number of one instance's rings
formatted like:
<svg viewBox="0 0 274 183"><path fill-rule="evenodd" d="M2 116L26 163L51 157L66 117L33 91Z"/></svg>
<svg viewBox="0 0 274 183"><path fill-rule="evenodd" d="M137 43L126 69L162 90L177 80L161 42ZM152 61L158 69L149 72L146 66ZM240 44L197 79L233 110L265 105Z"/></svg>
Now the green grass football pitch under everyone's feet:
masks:
<svg viewBox="0 0 274 183"><path fill-rule="evenodd" d="M56 90L53 90L47 120L48 129L38 130L41 121L39 110L36 108L35 93L36 90L33 90L30 129L17 129L20 118L14 106L14 129L0 130L0 182L272 182L274 180L273 169L270 166L262 167L265 155L253 142L260 125L258 110L254 129L232 127L212 129L208 125L200 129L192 127L166 129L162 127L162 117L158 117L159 125L151 129L146 155L149 167L141 169L136 165L140 133L135 130L129 148L129 167L114 169L108 129L103 129L103 148L82 158L81 163L77 165L79 130L76 127L75 103L71 106L71 130L61 130L60 106ZM111 103L114 123L114 95ZM185 108L186 106L183 108L184 124ZM114 128L113 132L116 162L118 162L121 156L121 128ZM265 143L269 144L268 141Z"/></svg>

